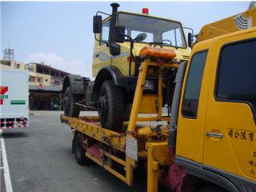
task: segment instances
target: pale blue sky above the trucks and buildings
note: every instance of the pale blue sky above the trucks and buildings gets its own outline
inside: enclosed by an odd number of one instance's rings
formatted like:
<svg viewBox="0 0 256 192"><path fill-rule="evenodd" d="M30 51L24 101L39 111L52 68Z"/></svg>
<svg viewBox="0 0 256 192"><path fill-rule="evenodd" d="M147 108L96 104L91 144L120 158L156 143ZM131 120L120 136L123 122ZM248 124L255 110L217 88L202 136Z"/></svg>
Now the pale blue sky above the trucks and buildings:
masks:
<svg viewBox="0 0 256 192"><path fill-rule="evenodd" d="M119 10L172 18L198 33L207 23L238 14L250 2L119 2ZM0 2L1 50L14 47L21 62L46 65L91 77L92 18L110 13L110 2ZM0 54L2 58L2 51Z"/></svg>

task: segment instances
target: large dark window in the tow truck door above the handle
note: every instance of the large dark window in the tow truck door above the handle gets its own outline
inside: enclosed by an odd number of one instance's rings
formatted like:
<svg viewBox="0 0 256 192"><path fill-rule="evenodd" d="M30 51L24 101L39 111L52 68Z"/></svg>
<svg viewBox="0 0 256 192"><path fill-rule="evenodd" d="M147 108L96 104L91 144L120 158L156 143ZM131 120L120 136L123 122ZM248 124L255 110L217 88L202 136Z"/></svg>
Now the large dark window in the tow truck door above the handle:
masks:
<svg viewBox="0 0 256 192"><path fill-rule="evenodd" d="M256 108L256 39L222 48L216 97L227 102L247 102Z"/></svg>

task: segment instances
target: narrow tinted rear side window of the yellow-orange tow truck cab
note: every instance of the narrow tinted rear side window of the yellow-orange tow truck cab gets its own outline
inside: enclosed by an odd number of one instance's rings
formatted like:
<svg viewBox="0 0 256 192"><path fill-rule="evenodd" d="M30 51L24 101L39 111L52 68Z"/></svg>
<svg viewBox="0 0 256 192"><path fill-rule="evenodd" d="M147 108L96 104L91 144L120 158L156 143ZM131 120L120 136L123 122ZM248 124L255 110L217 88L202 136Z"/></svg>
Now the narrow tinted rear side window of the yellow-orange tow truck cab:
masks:
<svg viewBox="0 0 256 192"><path fill-rule="evenodd" d="M182 115L197 118L198 102L202 84L202 74L206 64L207 51L194 54L186 79L185 94L182 102Z"/></svg>

